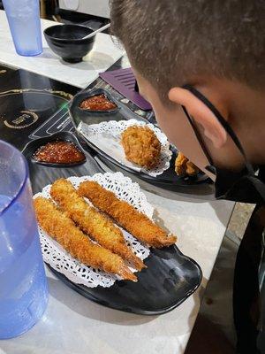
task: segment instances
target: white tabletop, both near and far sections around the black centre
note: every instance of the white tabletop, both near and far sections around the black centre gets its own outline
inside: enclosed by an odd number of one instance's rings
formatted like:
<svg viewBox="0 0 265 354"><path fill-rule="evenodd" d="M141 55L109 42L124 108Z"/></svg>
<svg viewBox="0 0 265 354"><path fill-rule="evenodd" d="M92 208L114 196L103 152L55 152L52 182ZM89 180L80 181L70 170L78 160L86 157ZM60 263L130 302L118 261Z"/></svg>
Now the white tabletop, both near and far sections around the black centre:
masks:
<svg viewBox="0 0 265 354"><path fill-rule="evenodd" d="M42 21L43 27L50 24ZM91 62L87 58L86 63L79 65L63 64L47 47L42 56L19 57L12 48L3 13L0 13L0 45L0 62L79 87L87 85L98 70L106 69L120 55L108 35L97 35ZM184 353L234 204L154 189L145 182L140 185L155 207L155 219L178 235L178 248L200 264L203 272L200 289L172 312L146 317L95 304L66 287L47 269L47 311L27 334L0 341L1 354Z"/></svg>

